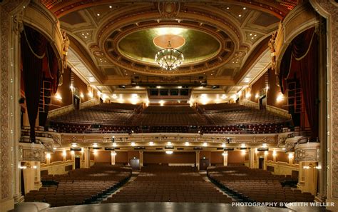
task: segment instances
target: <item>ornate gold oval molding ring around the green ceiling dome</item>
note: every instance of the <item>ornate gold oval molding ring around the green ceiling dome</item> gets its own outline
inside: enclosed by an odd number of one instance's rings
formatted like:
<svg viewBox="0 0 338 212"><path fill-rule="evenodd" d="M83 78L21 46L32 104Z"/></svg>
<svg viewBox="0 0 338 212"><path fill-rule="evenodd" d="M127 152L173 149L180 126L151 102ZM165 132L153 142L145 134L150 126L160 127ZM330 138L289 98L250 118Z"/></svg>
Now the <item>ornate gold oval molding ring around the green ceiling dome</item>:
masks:
<svg viewBox="0 0 338 212"><path fill-rule="evenodd" d="M192 29L202 31L217 39L221 44L220 51L208 60L198 61L188 66L183 64L174 74L188 75L215 70L227 64L235 53L238 53L242 36L240 36L240 29L225 17L210 15L211 11L209 14L207 13L207 11L190 9L188 12L180 13L178 19L159 19L158 12L153 11L151 8L143 7L140 11L134 10L132 14L112 16L110 19L106 19L105 24L101 24L101 28L98 29L97 42L93 46L101 49L103 54L110 56L111 63L122 69L141 74L166 76L173 74L173 72L164 71L155 64L149 65L149 63L146 64L126 57L119 51L118 42L124 36L143 29L163 26ZM142 39L140 39L140 42L143 42ZM93 48L91 47L91 49Z"/></svg>

